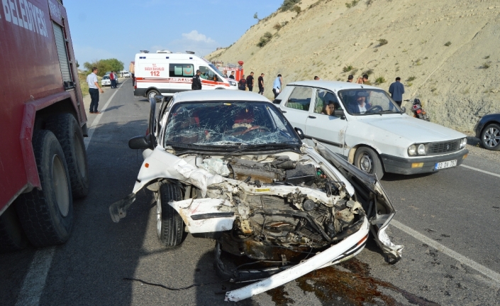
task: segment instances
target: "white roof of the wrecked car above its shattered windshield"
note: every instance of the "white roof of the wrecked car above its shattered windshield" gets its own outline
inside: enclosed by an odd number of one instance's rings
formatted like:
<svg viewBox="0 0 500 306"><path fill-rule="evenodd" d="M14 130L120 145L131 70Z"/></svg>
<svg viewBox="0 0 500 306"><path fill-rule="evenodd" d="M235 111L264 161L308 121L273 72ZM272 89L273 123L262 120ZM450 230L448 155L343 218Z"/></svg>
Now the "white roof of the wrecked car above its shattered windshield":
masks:
<svg viewBox="0 0 500 306"><path fill-rule="evenodd" d="M204 102L204 101L255 101L271 103L266 97L255 92L244 92L243 90L193 90L189 92L178 92L174 94L174 103L178 102Z"/></svg>

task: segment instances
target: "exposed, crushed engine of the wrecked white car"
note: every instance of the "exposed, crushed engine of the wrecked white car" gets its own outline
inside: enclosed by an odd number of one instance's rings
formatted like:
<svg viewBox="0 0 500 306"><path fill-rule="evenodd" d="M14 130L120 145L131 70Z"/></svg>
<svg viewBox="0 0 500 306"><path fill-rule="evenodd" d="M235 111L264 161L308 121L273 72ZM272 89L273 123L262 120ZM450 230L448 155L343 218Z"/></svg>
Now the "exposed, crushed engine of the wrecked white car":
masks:
<svg viewBox="0 0 500 306"><path fill-rule="evenodd" d="M323 248L347 236L345 229L365 215L360 203L350 199L344 183L328 177L312 160L291 160L285 155L260 162L219 161L229 170L222 167L223 176L233 178L228 180L233 183L230 187L228 182L211 185L207 196L226 197L235 205L238 217L232 231L218 237L223 249L235 255L276 260L279 256L273 246ZM201 167L211 170L206 166L211 162L205 159ZM226 190L233 187L228 195Z"/></svg>

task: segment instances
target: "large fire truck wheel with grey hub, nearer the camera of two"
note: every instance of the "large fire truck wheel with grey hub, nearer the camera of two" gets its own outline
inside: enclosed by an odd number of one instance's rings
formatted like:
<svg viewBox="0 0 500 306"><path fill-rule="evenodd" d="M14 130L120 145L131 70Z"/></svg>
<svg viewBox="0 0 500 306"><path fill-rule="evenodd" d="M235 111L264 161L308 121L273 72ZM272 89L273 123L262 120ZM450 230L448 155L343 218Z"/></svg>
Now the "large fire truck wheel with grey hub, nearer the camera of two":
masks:
<svg viewBox="0 0 500 306"><path fill-rule="evenodd" d="M70 238L73 223L73 198L65 155L48 130L33 131L41 190L24 193L16 200L21 226L33 246L63 244Z"/></svg>

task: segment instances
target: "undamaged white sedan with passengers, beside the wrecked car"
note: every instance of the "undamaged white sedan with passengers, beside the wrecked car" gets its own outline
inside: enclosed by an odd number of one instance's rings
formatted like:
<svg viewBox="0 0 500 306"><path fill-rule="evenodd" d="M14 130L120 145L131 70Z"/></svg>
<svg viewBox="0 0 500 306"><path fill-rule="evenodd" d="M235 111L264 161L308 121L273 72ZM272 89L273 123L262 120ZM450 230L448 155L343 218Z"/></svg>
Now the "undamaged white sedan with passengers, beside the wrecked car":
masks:
<svg viewBox="0 0 500 306"><path fill-rule="evenodd" d="M413 118L387 92L348 82L292 82L274 104L306 143L323 143L380 179L384 173L428 173L460 165L467 136Z"/></svg>

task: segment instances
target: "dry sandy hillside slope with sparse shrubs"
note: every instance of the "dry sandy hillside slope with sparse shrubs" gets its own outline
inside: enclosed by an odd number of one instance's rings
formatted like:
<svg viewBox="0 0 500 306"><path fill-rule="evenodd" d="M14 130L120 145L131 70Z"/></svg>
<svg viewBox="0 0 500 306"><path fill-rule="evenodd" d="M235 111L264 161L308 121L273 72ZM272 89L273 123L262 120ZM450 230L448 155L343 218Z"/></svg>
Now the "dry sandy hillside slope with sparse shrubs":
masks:
<svg viewBox="0 0 500 306"><path fill-rule="evenodd" d="M269 98L278 73L287 84L371 70L370 80L384 78L377 86L385 90L401 77L404 99L421 99L438 124L472 131L479 116L500 112L499 0L345 2L302 0L300 13L278 10L207 58L243 60L255 77L264 72ZM272 38L260 48L266 32Z"/></svg>

